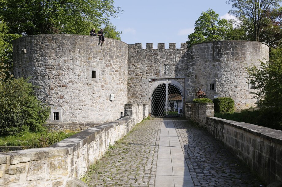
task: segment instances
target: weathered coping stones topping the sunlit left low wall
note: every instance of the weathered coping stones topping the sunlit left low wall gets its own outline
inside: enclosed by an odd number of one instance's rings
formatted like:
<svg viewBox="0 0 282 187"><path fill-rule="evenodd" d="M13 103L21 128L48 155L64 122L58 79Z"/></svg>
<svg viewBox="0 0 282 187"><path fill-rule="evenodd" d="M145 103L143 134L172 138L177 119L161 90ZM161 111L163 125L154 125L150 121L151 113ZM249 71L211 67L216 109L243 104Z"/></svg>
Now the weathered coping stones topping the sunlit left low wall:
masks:
<svg viewBox="0 0 282 187"><path fill-rule="evenodd" d="M131 117L124 117L116 121L97 125L88 128L75 135L72 135L50 147L23 149L0 154L0 164L7 164L8 160L11 165L29 162L32 160L41 160L53 156L65 156L74 153L78 148L84 146L87 142L95 140L96 135L102 131L108 131L110 128L123 125L131 120Z"/></svg>

